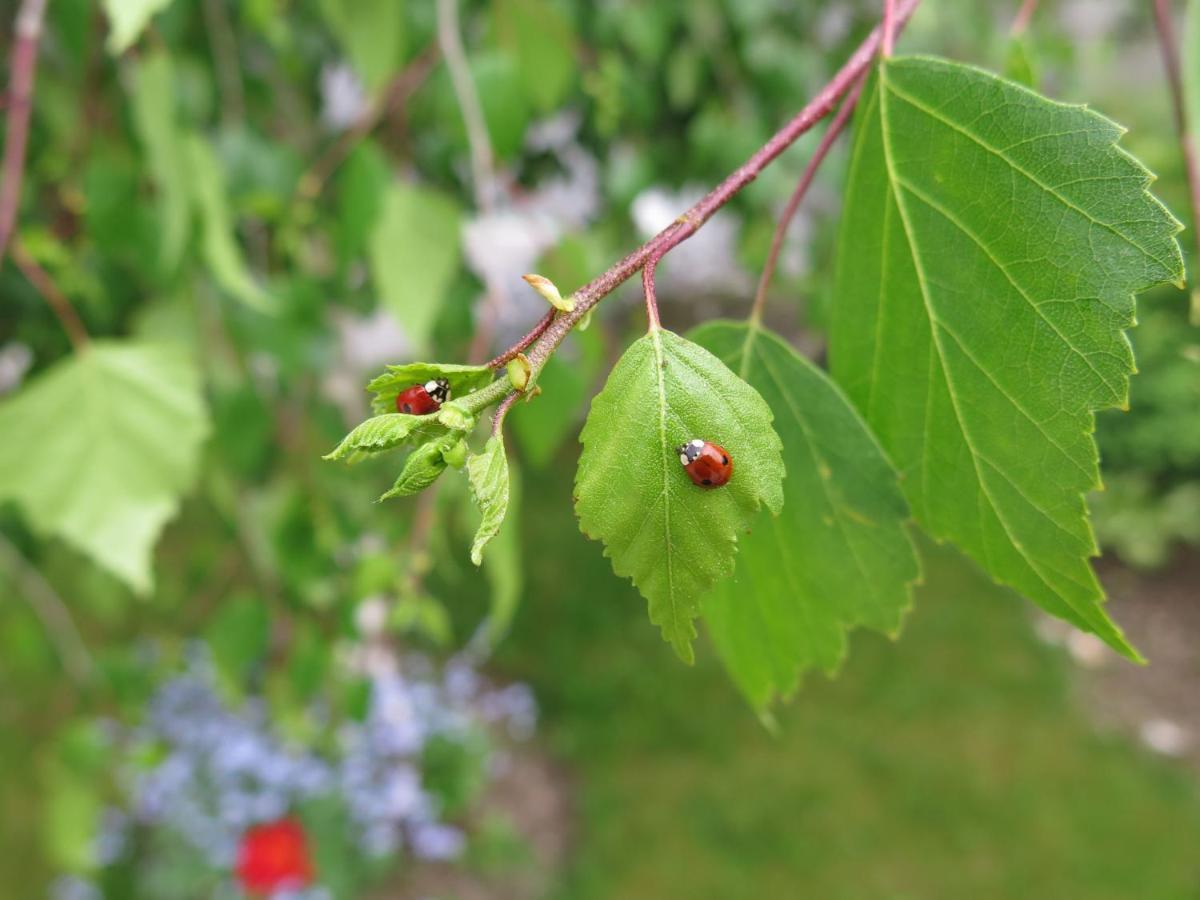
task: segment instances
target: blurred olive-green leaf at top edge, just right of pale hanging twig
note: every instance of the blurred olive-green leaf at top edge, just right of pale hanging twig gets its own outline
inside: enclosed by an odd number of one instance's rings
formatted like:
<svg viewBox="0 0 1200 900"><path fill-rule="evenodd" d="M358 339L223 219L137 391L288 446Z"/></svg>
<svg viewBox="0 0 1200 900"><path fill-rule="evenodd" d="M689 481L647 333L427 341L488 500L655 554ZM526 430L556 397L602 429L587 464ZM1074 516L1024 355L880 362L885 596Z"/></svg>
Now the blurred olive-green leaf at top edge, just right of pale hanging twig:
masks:
<svg viewBox="0 0 1200 900"><path fill-rule="evenodd" d="M497 35L517 60L526 96L538 112L553 110L575 80L570 22L547 0L497 0L493 10Z"/></svg>

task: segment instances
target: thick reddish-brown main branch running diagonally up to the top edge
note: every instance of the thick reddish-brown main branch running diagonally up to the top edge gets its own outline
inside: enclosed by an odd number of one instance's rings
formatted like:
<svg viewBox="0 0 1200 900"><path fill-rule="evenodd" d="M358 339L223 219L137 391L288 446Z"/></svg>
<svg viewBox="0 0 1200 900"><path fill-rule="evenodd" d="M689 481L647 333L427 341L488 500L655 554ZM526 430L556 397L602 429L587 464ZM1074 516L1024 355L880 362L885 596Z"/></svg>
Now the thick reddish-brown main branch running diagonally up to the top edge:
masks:
<svg viewBox="0 0 1200 900"><path fill-rule="evenodd" d="M920 0L900 0L898 2L895 10L896 30L904 26L919 2ZM742 188L754 181L758 176L758 173L791 146L798 137L828 115L838 101L871 65L875 54L880 49L882 34L882 26L871 31L866 40L858 46L858 49L854 50L850 60L821 89L817 96L720 185L649 241L575 292L575 310L558 316L529 350L528 356L534 371L538 371L546 362L566 334L600 300L616 290L649 260L661 259L672 247L695 234L697 228L707 222L716 210L728 203ZM490 396L492 396L491 392L480 392L479 401L481 402Z"/></svg>

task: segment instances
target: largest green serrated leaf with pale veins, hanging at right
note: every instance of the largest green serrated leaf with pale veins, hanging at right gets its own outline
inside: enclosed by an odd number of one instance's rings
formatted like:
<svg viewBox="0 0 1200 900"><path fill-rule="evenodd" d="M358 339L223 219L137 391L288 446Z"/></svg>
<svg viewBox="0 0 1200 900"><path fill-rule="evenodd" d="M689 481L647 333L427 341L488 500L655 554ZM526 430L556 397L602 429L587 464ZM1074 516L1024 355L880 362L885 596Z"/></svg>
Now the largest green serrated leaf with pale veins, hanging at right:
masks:
<svg viewBox="0 0 1200 900"><path fill-rule="evenodd" d="M1084 493L1124 406L1133 294L1178 282L1178 223L1121 128L976 68L883 64L850 173L833 373L917 520L1135 658L1104 613Z"/></svg>

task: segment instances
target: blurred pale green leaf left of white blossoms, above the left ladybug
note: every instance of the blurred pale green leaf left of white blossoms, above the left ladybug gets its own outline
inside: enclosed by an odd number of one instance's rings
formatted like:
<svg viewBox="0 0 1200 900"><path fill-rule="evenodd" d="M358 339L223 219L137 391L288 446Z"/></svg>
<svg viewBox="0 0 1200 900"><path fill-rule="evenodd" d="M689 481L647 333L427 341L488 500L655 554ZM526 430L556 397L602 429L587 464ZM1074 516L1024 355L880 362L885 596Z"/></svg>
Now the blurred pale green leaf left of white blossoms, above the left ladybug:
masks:
<svg viewBox="0 0 1200 900"><path fill-rule="evenodd" d="M458 206L437 191L395 182L371 235L371 275L413 346L428 346L458 268Z"/></svg>

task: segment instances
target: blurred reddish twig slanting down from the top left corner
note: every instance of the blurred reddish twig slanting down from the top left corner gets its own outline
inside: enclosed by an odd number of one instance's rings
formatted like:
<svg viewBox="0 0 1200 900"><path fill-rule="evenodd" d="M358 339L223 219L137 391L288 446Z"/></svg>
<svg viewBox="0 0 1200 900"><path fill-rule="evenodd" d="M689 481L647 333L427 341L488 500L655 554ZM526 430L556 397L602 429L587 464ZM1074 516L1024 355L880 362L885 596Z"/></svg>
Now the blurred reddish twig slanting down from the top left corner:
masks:
<svg viewBox="0 0 1200 900"><path fill-rule="evenodd" d="M8 76L8 115L0 175L0 260L4 259L20 205L20 184L25 176L25 145L29 142L29 114L34 103L34 76L37 46L42 37L46 0L22 0L13 26L12 66Z"/></svg>

